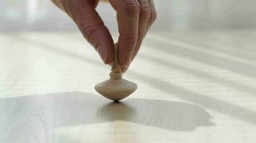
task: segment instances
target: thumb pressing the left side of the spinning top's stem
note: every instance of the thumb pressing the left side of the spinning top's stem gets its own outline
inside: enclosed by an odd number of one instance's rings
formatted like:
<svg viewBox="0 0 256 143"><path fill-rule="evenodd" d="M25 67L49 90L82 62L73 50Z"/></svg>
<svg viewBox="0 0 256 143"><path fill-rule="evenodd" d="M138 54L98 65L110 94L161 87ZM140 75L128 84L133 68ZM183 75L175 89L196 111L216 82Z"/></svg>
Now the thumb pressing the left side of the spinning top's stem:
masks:
<svg viewBox="0 0 256 143"><path fill-rule="evenodd" d="M105 64L111 64L114 57L114 41L93 4L83 0L71 1L68 8L68 13L86 40L98 51Z"/></svg>

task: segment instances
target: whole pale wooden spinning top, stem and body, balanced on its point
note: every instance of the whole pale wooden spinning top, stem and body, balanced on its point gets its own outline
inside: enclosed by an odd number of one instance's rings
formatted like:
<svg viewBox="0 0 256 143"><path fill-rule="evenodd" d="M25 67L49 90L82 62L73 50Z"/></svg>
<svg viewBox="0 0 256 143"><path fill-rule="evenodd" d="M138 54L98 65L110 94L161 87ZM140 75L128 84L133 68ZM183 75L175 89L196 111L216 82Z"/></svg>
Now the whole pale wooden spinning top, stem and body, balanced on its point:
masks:
<svg viewBox="0 0 256 143"><path fill-rule="evenodd" d="M94 87L104 97L119 101L128 97L137 89L137 84L122 79L122 71L117 61L117 47L114 47L114 63L109 74L110 79L96 84Z"/></svg>

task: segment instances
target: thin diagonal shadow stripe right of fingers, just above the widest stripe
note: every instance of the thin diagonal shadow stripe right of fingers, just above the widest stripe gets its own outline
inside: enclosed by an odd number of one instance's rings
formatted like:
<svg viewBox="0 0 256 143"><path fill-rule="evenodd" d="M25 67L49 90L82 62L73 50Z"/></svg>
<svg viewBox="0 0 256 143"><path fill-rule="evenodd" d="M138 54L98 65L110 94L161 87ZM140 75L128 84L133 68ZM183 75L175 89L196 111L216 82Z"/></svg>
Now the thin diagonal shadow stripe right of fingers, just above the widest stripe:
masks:
<svg viewBox="0 0 256 143"><path fill-rule="evenodd" d="M152 38L151 38L152 39ZM233 71L237 74L242 74L247 77L256 77L256 66L251 64L246 64L240 61L234 61L232 59L226 59L221 56L207 54L203 51L196 51L193 49L188 49L185 46L177 46L175 44L170 44L163 41L149 40L145 43L148 47L160 47L157 50L167 52L169 54L175 54L182 56L185 59L190 59L193 61L198 61L202 64L214 66L218 69L226 69Z"/></svg>

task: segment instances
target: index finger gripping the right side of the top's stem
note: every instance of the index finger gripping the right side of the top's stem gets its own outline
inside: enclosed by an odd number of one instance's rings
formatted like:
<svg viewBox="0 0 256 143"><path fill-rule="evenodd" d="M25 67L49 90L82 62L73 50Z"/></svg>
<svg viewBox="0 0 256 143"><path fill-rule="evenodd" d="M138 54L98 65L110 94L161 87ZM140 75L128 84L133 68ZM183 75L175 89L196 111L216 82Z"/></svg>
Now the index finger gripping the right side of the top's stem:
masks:
<svg viewBox="0 0 256 143"><path fill-rule="evenodd" d="M117 4L117 22L119 26L118 59L123 72L132 60L137 45L140 3L137 0L123 0Z"/></svg>

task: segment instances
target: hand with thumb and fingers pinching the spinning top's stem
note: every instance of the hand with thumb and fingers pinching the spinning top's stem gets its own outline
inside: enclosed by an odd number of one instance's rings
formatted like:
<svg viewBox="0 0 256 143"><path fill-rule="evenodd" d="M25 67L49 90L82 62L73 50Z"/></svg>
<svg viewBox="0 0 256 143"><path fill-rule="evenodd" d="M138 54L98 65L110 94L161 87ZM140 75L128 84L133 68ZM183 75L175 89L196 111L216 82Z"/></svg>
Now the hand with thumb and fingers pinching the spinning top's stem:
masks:
<svg viewBox="0 0 256 143"><path fill-rule="evenodd" d="M106 0L105 0L106 1ZM114 41L109 29L97 13L99 0L52 0L77 24L85 39L98 51L105 64L114 60ZM118 61L122 72L127 71L137 55L142 40L156 19L152 0L109 0L116 11L119 29Z"/></svg>

